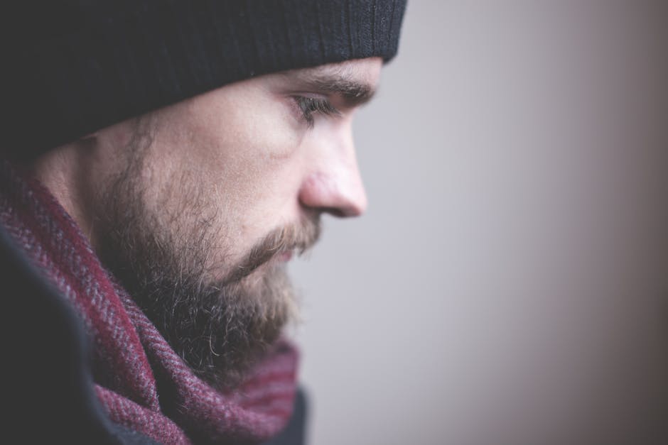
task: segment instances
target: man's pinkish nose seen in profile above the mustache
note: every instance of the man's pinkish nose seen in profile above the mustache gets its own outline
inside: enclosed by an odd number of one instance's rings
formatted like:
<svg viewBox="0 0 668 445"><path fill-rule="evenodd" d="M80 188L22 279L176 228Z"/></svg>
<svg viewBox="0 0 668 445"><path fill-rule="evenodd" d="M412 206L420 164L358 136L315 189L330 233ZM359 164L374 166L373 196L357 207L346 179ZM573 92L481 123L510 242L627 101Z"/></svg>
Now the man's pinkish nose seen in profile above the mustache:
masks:
<svg viewBox="0 0 668 445"><path fill-rule="evenodd" d="M341 145L320 150L299 189L303 206L340 217L360 216L367 209L352 135L345 139Z"/></svg>

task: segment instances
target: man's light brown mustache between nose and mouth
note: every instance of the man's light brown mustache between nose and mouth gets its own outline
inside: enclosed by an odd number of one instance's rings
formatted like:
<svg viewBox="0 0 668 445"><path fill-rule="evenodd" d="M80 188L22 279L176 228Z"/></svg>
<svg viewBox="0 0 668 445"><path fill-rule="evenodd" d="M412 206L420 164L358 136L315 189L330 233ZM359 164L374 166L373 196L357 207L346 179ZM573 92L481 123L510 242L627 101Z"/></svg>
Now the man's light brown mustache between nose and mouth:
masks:
<svg viewBox="0 0 668 445"><path fill-rule="evenodd" d="M318 242L321 232L319 215L305 216L299 224L274 229L256 243L248 255L233 268L233 272L225 279L225 285L242 280L281 253L303 254Z"/></svg>

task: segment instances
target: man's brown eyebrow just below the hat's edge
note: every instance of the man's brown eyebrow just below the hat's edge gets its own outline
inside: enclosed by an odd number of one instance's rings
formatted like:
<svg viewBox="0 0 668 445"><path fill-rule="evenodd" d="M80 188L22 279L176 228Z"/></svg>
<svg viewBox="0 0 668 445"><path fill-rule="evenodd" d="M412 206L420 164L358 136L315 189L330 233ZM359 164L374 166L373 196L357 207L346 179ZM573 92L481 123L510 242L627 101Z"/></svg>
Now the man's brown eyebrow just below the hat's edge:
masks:
<svg viewBox="0 0 668 445"><path fill-rule="evenodd" d="M289 77L297 80L300 87L323 94L338 94L346 106L355 107L370 101L376 90L367 83L355 79L345 70L327 70L320 67L294 70Z"/></svg>

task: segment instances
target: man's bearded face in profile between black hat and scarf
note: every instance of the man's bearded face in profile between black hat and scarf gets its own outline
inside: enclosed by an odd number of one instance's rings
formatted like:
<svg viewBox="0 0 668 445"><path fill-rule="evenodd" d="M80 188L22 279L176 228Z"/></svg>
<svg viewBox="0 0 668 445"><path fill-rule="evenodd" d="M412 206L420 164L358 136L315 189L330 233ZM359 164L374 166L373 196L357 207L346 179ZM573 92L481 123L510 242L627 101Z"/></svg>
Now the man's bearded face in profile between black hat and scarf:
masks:
<svg viewBox="0 0 668 445"><path fill-rule="evenodd" d="M286 262L366 197L375 57L229 84L95 133L80 225L195 373L230 387L295 313Z"/></svg>

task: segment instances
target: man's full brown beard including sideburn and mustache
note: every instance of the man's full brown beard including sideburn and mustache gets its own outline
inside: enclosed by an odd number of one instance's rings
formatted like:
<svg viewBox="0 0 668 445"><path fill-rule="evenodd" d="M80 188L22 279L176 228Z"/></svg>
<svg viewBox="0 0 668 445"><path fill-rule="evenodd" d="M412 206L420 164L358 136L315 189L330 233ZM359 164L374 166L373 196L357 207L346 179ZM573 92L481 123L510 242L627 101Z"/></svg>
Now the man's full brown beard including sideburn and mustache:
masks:
<svg viewBox="0 0 668 445"><path fill-rule="evenodd" d="M104 236L97 237L95 248L195 375L229 390L296 318L295 293L281 256L312 246L320 221L313 214L276 228L230 263L234 240L227 236L219 204L208 199L196 175L170 178L167 183L178 185L179 196L175 189L163 190L149 205L142 171L149 167L150 145L150 138L134 138L124 171L97 199L97 228Z"/></svg>

